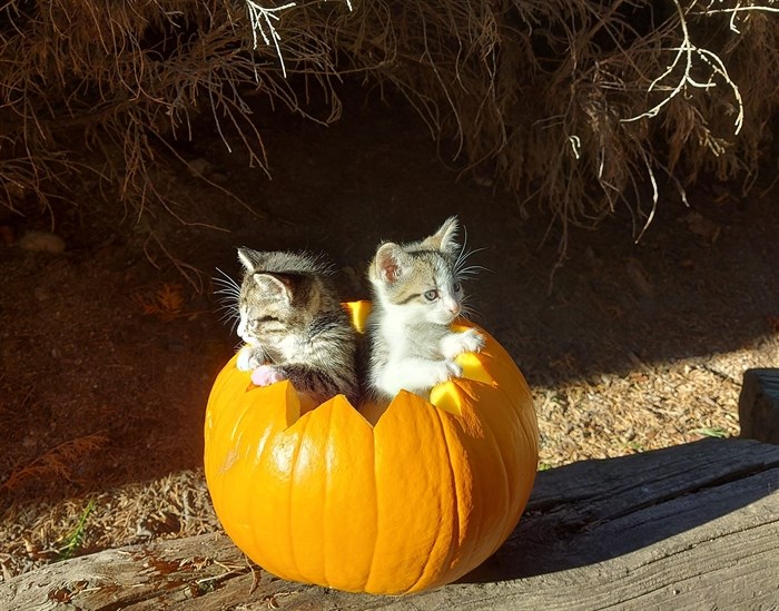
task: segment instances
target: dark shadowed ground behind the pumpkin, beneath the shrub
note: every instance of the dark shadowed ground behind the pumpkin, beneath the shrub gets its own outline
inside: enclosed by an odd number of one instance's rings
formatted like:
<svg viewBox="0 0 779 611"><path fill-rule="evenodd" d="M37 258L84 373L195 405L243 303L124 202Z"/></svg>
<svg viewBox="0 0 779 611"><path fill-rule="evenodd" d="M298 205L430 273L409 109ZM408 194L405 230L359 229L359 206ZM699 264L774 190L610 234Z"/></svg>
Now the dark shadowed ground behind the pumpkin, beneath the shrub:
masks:
<svg viewBox="0 0 779 611"><path fill-rule="evenodd" d="M668 191L638 245L627 209L596 231L571 228L550 284L560 227L543 242L549 219L539 203L458 179L410 111L357 108L346 117L329 128L265 126L272 180L215 135L183 147L267 216L183 170L168 186L187 218L226 230L160 216L150 225L159 242L149 242L131 221L119 224L122 210L87 216L72 203L56 225L69 246L63 255L0 247L0 437L8 449L0 481L95 435L103 440L99 460L55 481L27 480L20 494L55 500L199 466L210 383L236 344L209 278L216 268L238 275L240 245L324 250L342 268L345 297L364 298L364 268L379 240L417 239L457 214L469 246L483 248L472 260L490 269L467 287L474 318L531 386L704 358L778 324L779 215L769 197L742 200L704 185L690 194L693 210ZM17 235L48 228L45 217L7 213L0 224ZM200 270L205 293L171 258ZM180 296L179 309L167 318L145 312L144 299L166 286Z"/></svg>

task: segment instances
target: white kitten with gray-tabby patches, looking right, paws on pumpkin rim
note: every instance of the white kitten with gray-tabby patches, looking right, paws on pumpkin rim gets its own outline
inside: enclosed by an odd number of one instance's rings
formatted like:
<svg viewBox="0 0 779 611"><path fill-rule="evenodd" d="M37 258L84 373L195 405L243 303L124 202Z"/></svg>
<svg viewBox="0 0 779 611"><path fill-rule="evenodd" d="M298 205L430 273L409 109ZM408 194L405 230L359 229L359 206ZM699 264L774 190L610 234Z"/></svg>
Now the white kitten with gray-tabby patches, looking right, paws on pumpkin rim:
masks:
<svg viewBox="0 0 779 611"><path fill-rule="evenodd" d="M368 267L373 311L367 323L366 392L388 401L401 388L425 398L430 390L462 376L454 358L479 352L475 329L453 332L463 307L465 254L455 242L457 219L450 217L432 236L412 244L382 244Z"/></svg>

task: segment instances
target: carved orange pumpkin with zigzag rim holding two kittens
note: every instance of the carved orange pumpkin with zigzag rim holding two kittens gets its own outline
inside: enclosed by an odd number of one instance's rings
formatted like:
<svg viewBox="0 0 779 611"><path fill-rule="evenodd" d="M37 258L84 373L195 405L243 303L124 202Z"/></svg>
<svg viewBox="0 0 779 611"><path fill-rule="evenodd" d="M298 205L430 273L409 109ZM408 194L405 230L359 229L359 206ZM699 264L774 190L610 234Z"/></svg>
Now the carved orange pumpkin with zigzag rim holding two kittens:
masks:
<svg viewBox="0 0 779 611"><path fill-rule="evenodd" d="M369 304L347 306L362 331ZM522 374L484 336L480 354L457 357L463 378L386 408L338 395L302 411L288 382L256 387L227 363L208 400L205 472L235 544L283 579L381 594L486 560L530 496L538 426Z"/></svg>

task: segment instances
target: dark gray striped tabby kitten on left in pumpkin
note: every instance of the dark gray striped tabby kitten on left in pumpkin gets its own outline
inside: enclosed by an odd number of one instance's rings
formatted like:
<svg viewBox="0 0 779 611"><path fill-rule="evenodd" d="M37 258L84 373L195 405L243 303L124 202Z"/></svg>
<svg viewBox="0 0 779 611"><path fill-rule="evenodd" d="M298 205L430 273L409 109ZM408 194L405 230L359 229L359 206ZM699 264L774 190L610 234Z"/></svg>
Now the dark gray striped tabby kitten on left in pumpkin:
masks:
<svg viewBox="0 0 779 611"><path fill-rule="evenodd" d="M344 394L357 404L356 333L331 279L307 254L238 249L244 279L237 366L258 386L289 380L317 404Z"/></svg>

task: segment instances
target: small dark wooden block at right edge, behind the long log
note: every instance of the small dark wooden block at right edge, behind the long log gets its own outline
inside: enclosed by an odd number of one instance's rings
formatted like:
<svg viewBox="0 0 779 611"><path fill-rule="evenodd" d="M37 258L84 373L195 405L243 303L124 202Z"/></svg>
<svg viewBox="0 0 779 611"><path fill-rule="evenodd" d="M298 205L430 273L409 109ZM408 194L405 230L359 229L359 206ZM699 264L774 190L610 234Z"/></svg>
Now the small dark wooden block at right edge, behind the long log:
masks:
<svg viewBox="0 0 779 611"><path fill-rule="evenodd" d="M741 436L779 444L779 369L747 369L739 396Z"/></svg>

